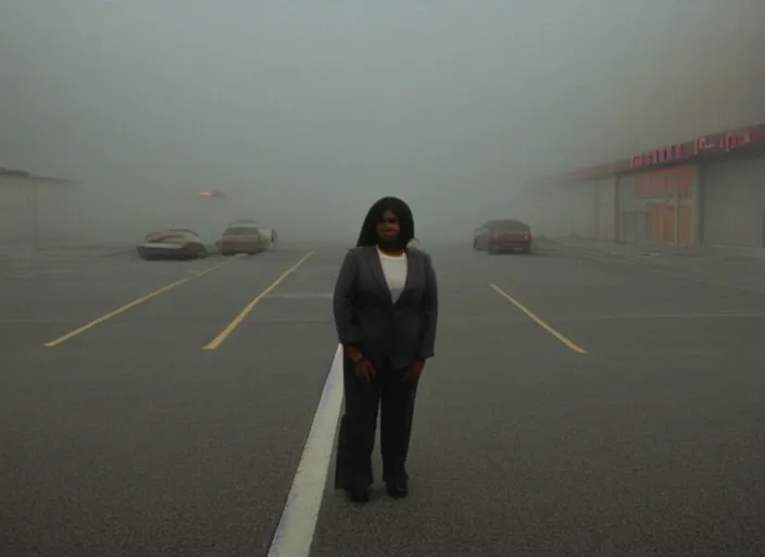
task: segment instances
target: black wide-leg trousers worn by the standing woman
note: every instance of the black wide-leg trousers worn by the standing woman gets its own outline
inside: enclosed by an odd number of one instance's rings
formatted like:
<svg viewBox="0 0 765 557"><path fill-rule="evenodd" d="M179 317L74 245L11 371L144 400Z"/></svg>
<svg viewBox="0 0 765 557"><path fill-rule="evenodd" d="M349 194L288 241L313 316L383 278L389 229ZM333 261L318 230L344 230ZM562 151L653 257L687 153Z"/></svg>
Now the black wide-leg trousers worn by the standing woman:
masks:
<svg viewBox="0 0 765 557"><path fill-rule="evenodd" d="M406 455L417 381L401 381L405 372L390 367L378 368L376 376L366 385L354 375L353 362L344 358L342 383L346 411L338 432L335 488L372 485L372 451L378 409L382 481L409 479Z"/></svg>

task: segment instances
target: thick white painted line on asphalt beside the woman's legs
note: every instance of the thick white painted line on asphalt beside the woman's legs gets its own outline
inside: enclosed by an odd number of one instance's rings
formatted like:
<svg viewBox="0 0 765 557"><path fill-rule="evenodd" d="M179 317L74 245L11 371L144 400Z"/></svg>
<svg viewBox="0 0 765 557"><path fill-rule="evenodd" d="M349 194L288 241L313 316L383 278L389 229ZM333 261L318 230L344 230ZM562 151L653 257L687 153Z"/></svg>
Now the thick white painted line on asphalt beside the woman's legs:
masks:
<svg viewBox="0 0 765 557"><path fill-rule="evenodd" d="M341 406L342 346L338 345L268 557L309 557L311 553Z"/></svg>

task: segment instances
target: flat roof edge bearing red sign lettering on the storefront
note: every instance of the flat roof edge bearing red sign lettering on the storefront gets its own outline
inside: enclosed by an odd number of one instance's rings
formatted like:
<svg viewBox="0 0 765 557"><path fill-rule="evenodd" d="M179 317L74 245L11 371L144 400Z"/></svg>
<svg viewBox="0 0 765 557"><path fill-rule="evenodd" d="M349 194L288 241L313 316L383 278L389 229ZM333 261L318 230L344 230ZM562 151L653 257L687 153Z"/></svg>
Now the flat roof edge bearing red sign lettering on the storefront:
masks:
<svg viewBox="0 0 765 557"><path fill-rule="evenodd" d="M765 124L706 134L689 141L665 145L605 164L574 169L540 180L540 184L575 183L615 176L627 172L692 163L710 156L725 156L753 145L765 145Z"/></svg>

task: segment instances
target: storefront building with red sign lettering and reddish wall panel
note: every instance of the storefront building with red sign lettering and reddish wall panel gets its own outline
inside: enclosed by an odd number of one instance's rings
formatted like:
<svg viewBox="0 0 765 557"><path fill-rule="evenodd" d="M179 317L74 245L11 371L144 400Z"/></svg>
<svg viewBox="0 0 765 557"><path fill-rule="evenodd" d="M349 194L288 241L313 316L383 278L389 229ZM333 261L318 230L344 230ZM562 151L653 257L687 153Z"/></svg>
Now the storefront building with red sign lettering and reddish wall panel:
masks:
<svg viewBox="0 0 765 557"><path fill-rule="evenodd" d="M555 182L592 201L589 230L572 231L577 234L765 248L765 125L579 169Z"/></svg>

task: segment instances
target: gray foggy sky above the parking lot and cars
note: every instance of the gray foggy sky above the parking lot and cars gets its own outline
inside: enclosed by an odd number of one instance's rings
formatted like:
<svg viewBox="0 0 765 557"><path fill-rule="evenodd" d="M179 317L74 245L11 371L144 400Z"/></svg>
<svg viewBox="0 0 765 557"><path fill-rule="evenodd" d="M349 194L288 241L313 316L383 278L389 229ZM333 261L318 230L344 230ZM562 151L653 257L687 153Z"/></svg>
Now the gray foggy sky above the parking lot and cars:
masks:
<svg viewBox="0 0 765 557"><path fill-rule="evenodd" d="M765 120L763 22L762 0L4 0L0 166L79 181L46 209L70 234L351 242L398 195L423 242L466 242L536 177Z"/></svg>

